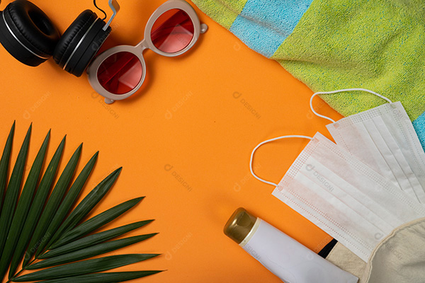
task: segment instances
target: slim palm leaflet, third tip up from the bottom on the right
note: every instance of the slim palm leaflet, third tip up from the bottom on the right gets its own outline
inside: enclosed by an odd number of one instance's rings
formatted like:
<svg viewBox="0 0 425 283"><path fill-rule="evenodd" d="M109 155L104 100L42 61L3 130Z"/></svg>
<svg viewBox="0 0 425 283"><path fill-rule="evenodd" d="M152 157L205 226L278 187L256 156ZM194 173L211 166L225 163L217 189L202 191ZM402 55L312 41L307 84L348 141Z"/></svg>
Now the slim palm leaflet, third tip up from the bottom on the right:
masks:
<svg viewBox="0 0 425 283"><path fill-rule="evenodd" d="M63 265L64 263L74 262L77 260L85 260L86 258L91 258L96 255L102 255L103 253L109 253L113 250L118 250L120 248L130 246L134 243L145 241L148 238L152 238L155 235L157 235L157 233L123 238L120 240L115 240L115 241L106 242L106 243L100 243L96 246L84 248L83 250L77 250L73 253L59 255L55 258L48 258L47 260L42 260L40 262L33 263L32 265L28 266L26 269L38 270L40 268L51 267L55 265Z"/></svg>

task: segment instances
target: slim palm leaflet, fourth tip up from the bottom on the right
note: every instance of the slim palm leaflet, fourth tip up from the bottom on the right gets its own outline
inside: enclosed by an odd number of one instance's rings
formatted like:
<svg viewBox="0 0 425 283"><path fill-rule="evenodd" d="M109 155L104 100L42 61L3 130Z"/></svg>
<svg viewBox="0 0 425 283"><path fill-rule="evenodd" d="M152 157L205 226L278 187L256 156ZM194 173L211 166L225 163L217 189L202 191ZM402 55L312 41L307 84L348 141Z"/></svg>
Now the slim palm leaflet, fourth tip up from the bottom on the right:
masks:
<svg viewBox="0 0 425 283"><path fill-rule="evenodd" d="M114 228L111 230L103 231L100 233L96 233L90 236L86 236L84 238L81 238L77 241L74 241L72 243L69 243L65 246L62 246L60 248L55 248L54 250L49 250L47 253L40 255L38 258L45 259L45 258L53 258L57 255L64 255L65 253L72 253L75 250L81 250L83 248L94 246L98 243L102 243L104 241L111 240L112 238L121 236L125 233L128 233L132 230L135 230L137 228L140 228L142 226L145 226L146 224L151 223L153 220L145 220L145 221L139 221L132 224L127 224L125 226L120 226L118 228Z"/></svg>

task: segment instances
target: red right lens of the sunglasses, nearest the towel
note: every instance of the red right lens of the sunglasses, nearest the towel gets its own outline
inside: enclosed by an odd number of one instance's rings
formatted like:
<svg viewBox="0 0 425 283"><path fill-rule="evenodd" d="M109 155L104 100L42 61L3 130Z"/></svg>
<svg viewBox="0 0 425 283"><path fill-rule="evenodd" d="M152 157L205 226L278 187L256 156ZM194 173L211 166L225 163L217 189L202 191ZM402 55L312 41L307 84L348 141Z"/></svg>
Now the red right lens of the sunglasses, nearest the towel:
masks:
<svg viewBox="0 0 425 283"><path fill-rule="evenodd" d="M152 26L151 38L162 52L176 53L192 41L195 27L189 15L174 8L163 13Z"/></svg>

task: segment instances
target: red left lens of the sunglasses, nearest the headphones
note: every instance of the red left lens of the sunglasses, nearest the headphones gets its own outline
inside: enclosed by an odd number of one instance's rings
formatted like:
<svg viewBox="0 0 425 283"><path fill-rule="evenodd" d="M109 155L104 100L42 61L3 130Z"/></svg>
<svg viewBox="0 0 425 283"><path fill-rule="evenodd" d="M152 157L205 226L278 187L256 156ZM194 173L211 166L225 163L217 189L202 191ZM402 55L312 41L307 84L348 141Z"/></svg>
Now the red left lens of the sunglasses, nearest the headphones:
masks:
<svg viewBox="0 0 425 283"><path fill-rule="evenodd" d="M140 83L143 68L140 59L130 52L119 52L106 58L97 72L101 86L113 94L125 94Z"/></svg>

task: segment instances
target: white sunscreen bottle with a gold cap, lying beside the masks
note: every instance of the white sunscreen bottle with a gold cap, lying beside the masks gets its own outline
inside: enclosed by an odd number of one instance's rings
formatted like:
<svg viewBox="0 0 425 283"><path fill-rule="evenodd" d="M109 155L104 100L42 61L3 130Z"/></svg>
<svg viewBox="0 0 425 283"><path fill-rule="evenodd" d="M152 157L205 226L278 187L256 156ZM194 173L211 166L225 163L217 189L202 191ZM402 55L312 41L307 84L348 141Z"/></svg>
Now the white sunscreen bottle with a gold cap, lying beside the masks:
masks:
<svg viewBox="0 0 425 283"><path fill-rule="evenodd" d="M242 207L225 226L225 234L285 283L357 283L341 270Z"/></svg>

